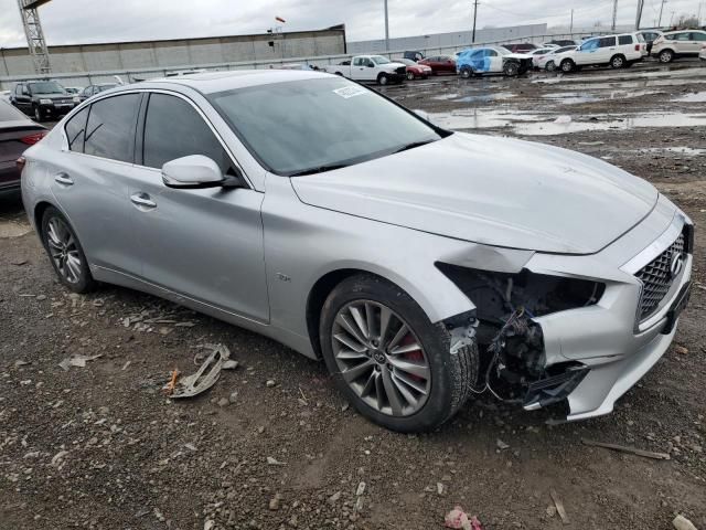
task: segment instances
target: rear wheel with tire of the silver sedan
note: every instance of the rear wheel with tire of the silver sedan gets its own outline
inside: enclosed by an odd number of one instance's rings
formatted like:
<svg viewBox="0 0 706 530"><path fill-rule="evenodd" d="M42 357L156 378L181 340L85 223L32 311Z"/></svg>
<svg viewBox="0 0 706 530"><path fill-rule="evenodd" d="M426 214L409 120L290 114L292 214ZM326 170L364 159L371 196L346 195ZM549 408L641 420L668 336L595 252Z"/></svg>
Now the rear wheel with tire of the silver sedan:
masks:
<svg viewBox="0 0 706 530"><path fill-rule="evenodd" d="M64 286L79 294L89 293L97 287L74 229L53 206L47 208L42 216L41 237L52 267ZM62 246L64 257L55 257Z"/></svg>

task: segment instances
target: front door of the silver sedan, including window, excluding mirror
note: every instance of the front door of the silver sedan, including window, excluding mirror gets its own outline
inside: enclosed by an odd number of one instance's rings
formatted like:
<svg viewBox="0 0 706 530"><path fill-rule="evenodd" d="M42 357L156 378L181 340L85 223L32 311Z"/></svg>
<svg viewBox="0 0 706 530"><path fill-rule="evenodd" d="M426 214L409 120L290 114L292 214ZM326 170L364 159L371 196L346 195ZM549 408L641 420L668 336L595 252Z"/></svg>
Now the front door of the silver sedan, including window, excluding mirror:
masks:
<svg viewBox="0 0 706 530"><path fill-rule="evenodd" d="M264 193L249 188L167 188L161 167L176 158L204 155L225 174L239 169L191 100L152 93L143 114L140 168L129 190L143 278L190 299L267 321Z"/></svg>

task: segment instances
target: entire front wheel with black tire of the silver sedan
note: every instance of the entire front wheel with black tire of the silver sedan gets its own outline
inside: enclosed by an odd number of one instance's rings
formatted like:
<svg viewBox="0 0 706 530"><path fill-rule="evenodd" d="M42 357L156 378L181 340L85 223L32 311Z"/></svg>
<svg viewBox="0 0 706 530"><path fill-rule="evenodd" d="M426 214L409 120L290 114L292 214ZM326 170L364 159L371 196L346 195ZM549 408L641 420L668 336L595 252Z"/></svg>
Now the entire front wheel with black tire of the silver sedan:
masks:
<svg viewBox="0 0 706 530"><path fill-rule="evenodd" d="M360 308L359 320L365 328L372 322L377 336L357 327L355 308ZM381 338L383 309L389 311L389 317L387 331ZM398 338L402 325L409 331ZM357 339L349 329L359 333ZM411 433L441 425L466 403L478 377L475 344L451 354L446 327L431 324L407 293L377 276L355 275L331 292L321 310L319 337L327 368L340 392L363 416L393 431ZM405 352L389 353L405 347ZM400 369L400 362L415 368L415 374ZM426 380L418 372L419 365L425 367ZM405 384L403 379L411 384ZM388 390L397 400L388 398ZM407 400L405 392L413 400ZM393 401L398 403L396 411Z"/></svg>

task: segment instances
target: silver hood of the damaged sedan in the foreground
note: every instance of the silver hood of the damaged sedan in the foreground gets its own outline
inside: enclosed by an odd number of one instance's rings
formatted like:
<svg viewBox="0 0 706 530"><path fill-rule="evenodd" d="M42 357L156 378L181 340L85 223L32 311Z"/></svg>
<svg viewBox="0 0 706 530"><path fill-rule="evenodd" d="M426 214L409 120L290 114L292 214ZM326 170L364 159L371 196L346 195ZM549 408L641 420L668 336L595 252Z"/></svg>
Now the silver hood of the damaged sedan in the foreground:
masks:
<svg viewBox="0 0 706 530"><path fill-rule="evenodd" d="M586 155L463 132L291 182L312 206L561 254L600 251L638 224L659 195L644 180Z"/></svg>

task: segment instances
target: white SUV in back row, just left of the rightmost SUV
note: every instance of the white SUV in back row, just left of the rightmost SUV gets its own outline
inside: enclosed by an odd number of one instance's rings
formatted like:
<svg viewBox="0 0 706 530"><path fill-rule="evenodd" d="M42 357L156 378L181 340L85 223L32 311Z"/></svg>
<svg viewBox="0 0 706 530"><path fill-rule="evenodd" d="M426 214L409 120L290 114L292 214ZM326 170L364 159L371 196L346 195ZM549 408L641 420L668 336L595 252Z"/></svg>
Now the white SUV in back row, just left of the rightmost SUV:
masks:
<svg viewBox="0 0 706 530"><path fill-rule="evenodd" d="M648 54L648 46L640 33L622 33L589 39L574 52L568 52L557 65L563 72L573 72L581 66L610 65L627 68Z"/></svg>

